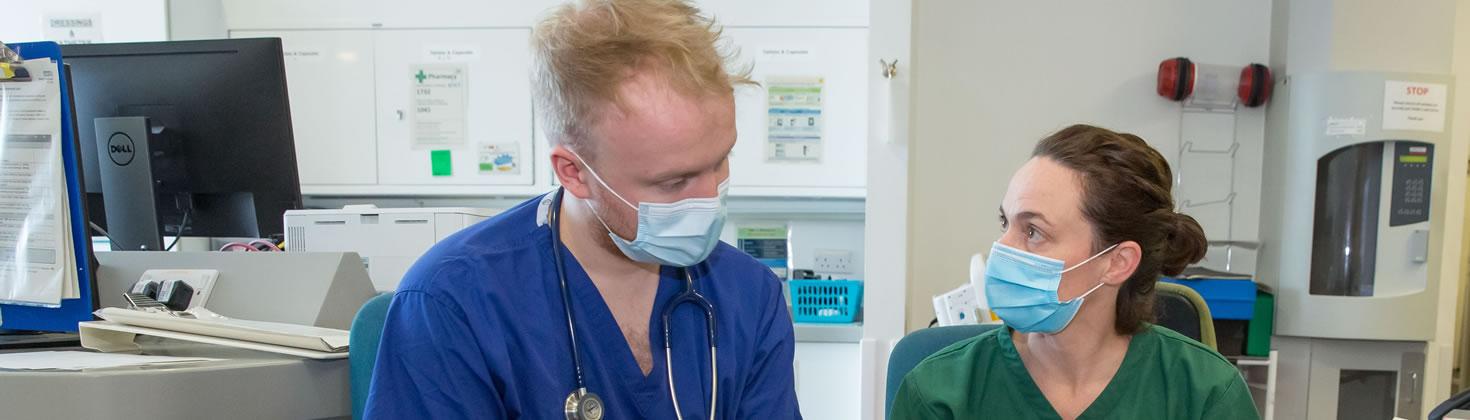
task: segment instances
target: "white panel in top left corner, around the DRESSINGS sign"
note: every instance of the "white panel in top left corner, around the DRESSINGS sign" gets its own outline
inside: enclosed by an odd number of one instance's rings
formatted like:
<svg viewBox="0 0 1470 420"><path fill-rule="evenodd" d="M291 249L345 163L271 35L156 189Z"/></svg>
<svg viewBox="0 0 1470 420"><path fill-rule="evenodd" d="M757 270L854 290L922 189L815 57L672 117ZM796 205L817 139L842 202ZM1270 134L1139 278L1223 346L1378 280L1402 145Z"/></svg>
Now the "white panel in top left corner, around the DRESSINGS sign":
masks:
<svg viewBox="0 0 1470 420"><path fill-rule="evenodd" d="M94 15L106 43L168 40L166 0L7 0L0 41L43 41L46 16Z"/></svg>

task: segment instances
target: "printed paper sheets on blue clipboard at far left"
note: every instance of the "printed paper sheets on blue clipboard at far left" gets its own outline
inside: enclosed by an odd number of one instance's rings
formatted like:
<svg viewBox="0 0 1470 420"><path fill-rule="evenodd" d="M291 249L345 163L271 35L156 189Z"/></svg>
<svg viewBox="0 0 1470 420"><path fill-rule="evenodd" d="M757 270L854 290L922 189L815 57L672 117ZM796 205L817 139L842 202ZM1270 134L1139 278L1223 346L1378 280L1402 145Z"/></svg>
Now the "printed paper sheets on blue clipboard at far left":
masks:
<svg viewBox="0 0 1470 420"><path fill-rule="evenodd" d="M56 62L0 79L0 303L57 307L79 298Z"/></svg>

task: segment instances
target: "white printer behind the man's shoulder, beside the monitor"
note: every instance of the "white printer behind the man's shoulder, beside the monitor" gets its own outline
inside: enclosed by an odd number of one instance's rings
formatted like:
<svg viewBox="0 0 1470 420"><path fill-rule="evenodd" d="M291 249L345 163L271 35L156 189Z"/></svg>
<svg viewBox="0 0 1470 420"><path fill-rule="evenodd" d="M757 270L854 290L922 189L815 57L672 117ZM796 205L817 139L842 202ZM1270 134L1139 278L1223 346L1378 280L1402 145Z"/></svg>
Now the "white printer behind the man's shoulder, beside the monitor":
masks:
<svg viewBox="0 0 1470 420"><path fill-rule="evenodd" d="M490 219L498 210L469 207L378 209L347 206L341 210L285 211L287 251L357 253L373 288L398 288L423 253L448 235Z"/></svg>

